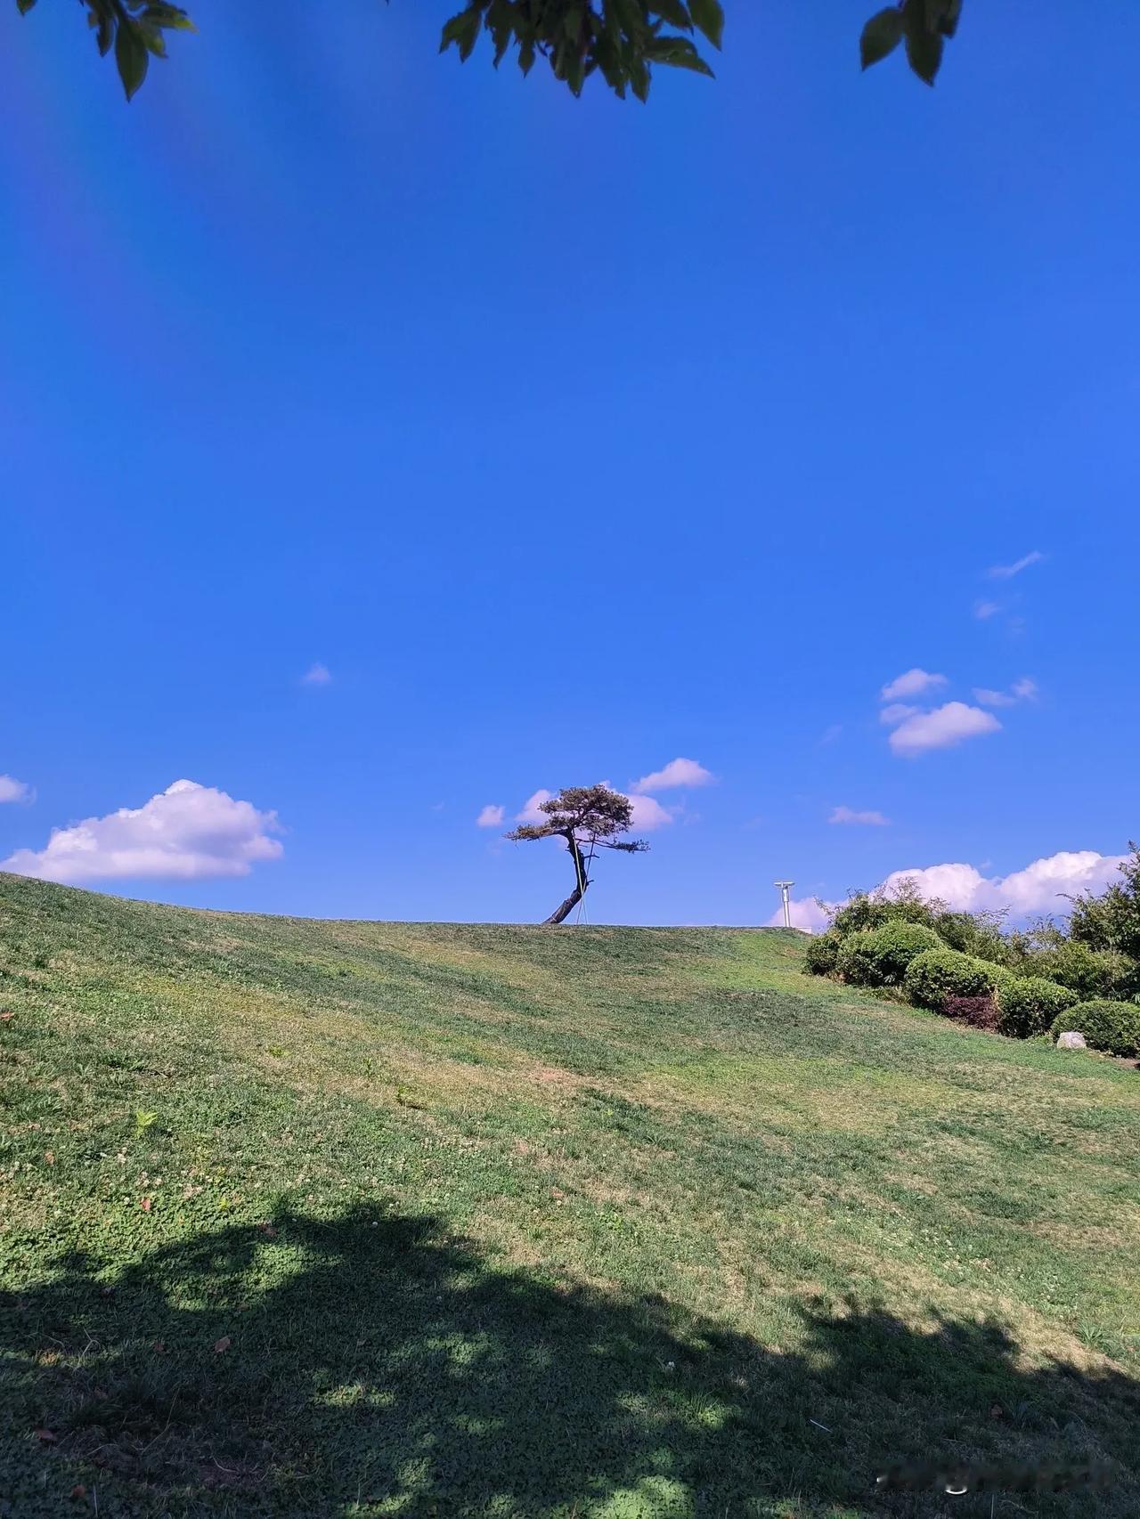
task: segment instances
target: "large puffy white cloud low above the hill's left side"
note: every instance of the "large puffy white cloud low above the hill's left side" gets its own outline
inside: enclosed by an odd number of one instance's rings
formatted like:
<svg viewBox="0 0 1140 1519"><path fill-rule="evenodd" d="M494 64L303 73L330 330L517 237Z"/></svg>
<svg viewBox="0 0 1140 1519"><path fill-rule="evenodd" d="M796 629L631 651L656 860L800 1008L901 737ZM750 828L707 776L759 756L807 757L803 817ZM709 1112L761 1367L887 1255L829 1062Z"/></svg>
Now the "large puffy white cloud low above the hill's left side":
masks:
<svg viewBox="0 0 1140 1519"><path fill-rule="evenodd" d="M43 881L146 878L198 881L249 875L260 860L277 860L277 813L196 781L175 781L143 807L52 831L43 849L17 849L2 870Z"/></svg>

